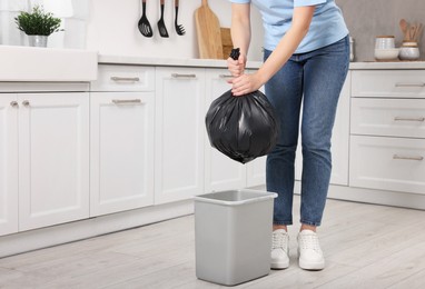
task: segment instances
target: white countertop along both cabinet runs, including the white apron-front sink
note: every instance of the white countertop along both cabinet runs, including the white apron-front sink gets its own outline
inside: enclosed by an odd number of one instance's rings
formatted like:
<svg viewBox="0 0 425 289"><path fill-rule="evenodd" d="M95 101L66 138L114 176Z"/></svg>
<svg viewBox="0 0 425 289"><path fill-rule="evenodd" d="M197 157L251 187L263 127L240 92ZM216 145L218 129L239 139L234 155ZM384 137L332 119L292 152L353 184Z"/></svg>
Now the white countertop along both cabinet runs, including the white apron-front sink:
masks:
<svg viewBox="0 0 425 289"><path fill-rule="evenodd" d="M99 64L227 68L226 60L98 54L96 51L0 46L0 81L90 81ZM257 69L261 61L248 61ZM352 62L350 70L425 69L425 61Z"/></svg>

